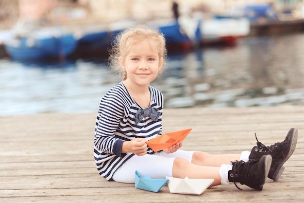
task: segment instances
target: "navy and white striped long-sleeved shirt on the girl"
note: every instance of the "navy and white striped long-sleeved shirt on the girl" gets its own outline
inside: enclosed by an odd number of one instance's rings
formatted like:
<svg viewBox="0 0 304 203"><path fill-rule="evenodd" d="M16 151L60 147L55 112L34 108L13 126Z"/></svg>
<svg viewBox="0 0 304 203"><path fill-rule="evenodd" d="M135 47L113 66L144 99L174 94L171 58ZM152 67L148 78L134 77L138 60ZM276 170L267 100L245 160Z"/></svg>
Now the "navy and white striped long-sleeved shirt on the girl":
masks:
<svg viewBox="0 0 304 203"><path fill-rule="evenodd" d="M157 121L145 117L137 124L135 113L140 107L122 82L109 90L101 99L96 119L94 158L99 174L110 180L114 172L134 153L121 153L122 143L137 137L150 140L162 132L163 94L149 86L150 107L160 112ZM151 148L148 154L155 153Z"/></svg>

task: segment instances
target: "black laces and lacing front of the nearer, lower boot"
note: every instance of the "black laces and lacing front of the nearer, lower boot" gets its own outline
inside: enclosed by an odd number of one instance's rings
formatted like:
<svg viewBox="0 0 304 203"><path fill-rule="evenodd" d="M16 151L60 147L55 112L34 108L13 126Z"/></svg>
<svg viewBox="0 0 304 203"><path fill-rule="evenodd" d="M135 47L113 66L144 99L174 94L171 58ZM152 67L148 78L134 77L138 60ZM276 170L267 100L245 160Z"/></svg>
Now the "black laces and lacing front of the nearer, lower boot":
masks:
<svg viewBox="0 0 304 203"><path fill-rule="evenodd" d="M236 181L235 181L235 177L238 178L238 177L250 177L252 174L250 173L249 171L249 164L245 164L244 161L235 161L235 162L231 162L232 165L233 165L233 170L232 170L232 173L230 174L230 177L232 178L233 180L233 183L236 185ZM241 184L245 184L245 182L243 183L240 182ZM237 185L236 185L236 188L239 189L239 190L242 190L241 188L239 188Z"/></svg>

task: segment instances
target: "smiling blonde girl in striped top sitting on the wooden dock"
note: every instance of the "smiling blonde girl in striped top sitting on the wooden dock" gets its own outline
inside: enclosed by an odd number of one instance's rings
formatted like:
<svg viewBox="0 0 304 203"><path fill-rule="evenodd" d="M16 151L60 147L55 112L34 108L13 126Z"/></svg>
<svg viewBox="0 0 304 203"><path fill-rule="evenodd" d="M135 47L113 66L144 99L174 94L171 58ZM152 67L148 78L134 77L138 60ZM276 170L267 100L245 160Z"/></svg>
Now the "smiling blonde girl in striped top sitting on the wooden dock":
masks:
<svg viewBox="0 0 304 203"><path fill-rule="evenodd" d="M297 129L290 129L281 143L266 147L257 141L251 152L241 154L185 151L180 149L182 142L158 152L147 146L162 134L163 94L150 83L164 70L166 55L163 34L148 27L130 28L116 37L109 61L123 79L99 106L94 139L99 174L106 180L135 183L137 170L151 178L212 178L211 186L238 182L257 190L267 176L278 180L296 146Z"/></svg>

